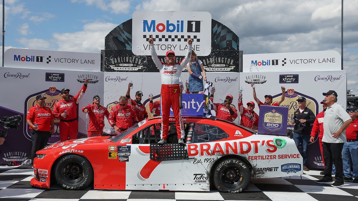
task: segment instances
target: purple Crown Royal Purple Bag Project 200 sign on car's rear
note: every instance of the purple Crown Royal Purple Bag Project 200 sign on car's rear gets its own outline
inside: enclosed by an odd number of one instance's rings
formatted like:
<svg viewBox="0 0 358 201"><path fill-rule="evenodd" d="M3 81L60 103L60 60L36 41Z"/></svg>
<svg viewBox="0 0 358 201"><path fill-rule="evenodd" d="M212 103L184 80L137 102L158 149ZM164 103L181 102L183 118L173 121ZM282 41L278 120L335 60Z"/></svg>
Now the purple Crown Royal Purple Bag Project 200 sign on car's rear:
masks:
<svg viewBox="0 0 358 201"><path fill-rule="evenodd" d="M258 133L286 136L289 108L280 106L260 106Z"/></svg>

